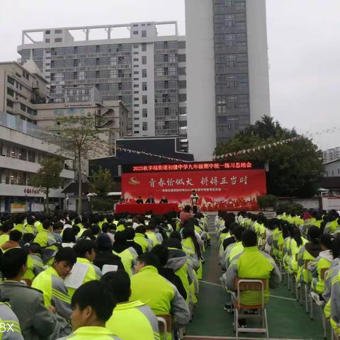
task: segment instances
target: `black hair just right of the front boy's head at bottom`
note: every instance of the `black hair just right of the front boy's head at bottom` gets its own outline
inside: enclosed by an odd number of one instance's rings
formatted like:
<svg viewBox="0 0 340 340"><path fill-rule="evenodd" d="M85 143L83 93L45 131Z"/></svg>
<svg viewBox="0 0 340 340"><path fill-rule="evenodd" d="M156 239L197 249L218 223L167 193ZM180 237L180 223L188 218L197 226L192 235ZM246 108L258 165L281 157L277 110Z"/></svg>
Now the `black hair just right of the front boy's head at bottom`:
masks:
<svg viewBox="0 0 340 340"><path fill-rule="evenodd" d="M118 303L128 302L131 293L131 280L128 273L122 270L109 271L101 277L101 282L108 286Z"/></svg>

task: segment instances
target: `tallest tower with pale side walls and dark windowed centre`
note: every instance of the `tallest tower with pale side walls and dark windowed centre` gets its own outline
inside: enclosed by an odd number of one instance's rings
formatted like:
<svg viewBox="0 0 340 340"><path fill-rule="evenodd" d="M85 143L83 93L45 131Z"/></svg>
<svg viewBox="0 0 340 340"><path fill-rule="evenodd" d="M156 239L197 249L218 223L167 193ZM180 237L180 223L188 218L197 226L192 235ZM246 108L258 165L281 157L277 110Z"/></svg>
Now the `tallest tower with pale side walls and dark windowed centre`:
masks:
<svg viewBox="0 0 340 340"><path fill-rule="evenodd" d="M188 142L195 159L270 115L265 0L186 0Z"/></svg>

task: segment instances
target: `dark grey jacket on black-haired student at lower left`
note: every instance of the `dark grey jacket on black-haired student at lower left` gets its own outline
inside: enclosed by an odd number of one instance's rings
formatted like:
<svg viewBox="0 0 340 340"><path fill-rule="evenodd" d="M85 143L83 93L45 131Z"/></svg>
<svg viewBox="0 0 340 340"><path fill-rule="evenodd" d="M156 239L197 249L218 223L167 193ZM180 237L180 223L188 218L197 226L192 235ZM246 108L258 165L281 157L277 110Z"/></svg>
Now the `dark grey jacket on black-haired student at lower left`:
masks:
<svg viewBox="0 0 340 340"><path fill-rule="evenodd" d="M18 317L25 340L45 340L55 332L57 321L45 307L40 290L5 280L0 283L0 291L1 297L9 300Z"/></svg>

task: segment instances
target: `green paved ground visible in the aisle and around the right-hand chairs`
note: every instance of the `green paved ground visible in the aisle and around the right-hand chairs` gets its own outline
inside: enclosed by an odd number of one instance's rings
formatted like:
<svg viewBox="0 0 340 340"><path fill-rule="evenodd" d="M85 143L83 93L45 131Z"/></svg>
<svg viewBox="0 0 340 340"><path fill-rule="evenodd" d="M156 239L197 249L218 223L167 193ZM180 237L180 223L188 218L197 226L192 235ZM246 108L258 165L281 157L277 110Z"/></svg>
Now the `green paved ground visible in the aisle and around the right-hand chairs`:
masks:
<svg viewBox="0 0 340 340"><path fill-rule="evenodd" d="M216 238L212 235L212 247L205 252L203 280L193 322L186 327L186 340L234 339L232 314L223 310L225 291L220 287L220 266L217 264ZM304 307L293 299L282 283L273 290L268 303L267 314L271 339L321 340L322 321L315 307L314 321L305 313ZM256 339L254 334L244 334L242 339Z"/></svg>

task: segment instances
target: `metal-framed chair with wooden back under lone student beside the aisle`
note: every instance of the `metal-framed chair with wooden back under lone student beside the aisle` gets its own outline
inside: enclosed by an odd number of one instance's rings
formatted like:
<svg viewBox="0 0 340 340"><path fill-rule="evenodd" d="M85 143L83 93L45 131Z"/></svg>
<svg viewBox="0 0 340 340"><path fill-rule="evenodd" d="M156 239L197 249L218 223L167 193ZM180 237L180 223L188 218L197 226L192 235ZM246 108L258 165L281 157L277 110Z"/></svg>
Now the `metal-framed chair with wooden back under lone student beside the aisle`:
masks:
<svg viewBox="0 0 340 340"><path fill-rule="evenodd" d="M236 278L234 282L234 288L237 290L237 299L241 296L240 293L247 290L256 290L261 292L261 305L247 306L242 305L239 301L234 300L234 331L236 332L236 339L239 339L239 332L246 333L264 333L266 334L266 339L269 339L268 331L268 321L266 306L264 304L264 291L266 290L267 281L266 280L252 280L245 278ZM258 310L259 314L244 314L242 310ZM261 319L262 328L240 328L239 318L258 318Z"/></svg>

